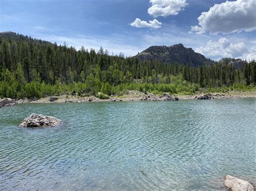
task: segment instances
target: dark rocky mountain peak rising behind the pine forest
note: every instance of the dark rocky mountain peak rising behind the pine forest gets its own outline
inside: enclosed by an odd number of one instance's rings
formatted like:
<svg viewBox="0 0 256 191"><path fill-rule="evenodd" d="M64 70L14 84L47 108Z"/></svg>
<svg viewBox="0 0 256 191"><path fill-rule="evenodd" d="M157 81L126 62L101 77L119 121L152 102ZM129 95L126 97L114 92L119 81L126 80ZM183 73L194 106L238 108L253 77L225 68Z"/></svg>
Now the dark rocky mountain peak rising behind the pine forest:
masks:
<svg viewBox="0 0 256 191"><path fill-rule="evenodd" d="M186 48L183 44L177 44L172 46L151 46L141 53L138 53L136 57L139 60L160 60L165 63L181 63L183 65L189 65L198 67L204 63L212 63L214 61L205 58L204 55L196 53L192 48Z"/></svg>

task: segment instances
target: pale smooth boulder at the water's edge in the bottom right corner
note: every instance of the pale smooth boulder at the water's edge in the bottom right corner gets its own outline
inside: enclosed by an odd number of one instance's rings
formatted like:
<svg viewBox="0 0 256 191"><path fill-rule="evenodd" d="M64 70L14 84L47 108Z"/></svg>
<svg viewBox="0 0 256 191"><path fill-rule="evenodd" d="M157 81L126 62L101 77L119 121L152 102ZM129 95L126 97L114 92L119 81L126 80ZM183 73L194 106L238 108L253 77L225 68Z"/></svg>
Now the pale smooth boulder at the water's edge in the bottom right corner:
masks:
<svg viewBox="0 0 256 191"><path fill-rule="evenodd" d="M235 178L231 175L225 176L225 186L233 191L254 191L250 182Z"/></svg>

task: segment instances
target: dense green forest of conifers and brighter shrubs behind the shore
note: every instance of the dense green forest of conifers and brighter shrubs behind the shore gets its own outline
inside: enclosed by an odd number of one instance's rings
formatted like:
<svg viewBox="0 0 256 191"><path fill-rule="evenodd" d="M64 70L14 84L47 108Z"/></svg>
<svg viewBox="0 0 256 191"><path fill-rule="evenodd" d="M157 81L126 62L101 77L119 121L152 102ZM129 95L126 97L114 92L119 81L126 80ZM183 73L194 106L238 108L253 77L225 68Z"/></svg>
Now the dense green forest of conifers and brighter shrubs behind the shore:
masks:
<svg viewBox="0 0 256 191"><path fill-rule="evenodd" d="M200 88L252 89L256 63L218 62L198 68L139 61L84 47L58 46L21 34L0 38L0 96L42 97L62 93L118 94L136 89L192 94Z"/></svg>

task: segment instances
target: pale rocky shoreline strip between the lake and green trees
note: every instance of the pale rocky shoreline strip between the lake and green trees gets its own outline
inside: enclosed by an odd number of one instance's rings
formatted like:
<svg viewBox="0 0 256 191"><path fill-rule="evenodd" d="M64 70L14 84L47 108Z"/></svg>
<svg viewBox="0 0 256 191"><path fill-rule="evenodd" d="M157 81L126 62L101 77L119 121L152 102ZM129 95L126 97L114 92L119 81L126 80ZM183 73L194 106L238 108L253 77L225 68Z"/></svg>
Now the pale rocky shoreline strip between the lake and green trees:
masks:
<svg viewBox="0 0 256 191"><path fill-rule="evenodd" d="M256 97L256 92L239 92L234 91L231 93L200 93L198 95L170 95L164 93L164 95L154 95L151 93L143 93L140 91L126 91L122 96L110 96L110 98L101 100L96 96L80 97L77 95L59 95L44 97L39 99L19 99L10 101L11 104L6 104L6 99L0 100L0 107L13 106L16 103L83 103L83 102L118 102L118 101L178 101L178 100L221 100L221 99L233 99L233 98L248 98ZM10 99L10 98L9 98ZM11 99L10 99L11 100ZM1 101L2 104L1 105ZM8 100L7 100L8 101Z"/></svg>

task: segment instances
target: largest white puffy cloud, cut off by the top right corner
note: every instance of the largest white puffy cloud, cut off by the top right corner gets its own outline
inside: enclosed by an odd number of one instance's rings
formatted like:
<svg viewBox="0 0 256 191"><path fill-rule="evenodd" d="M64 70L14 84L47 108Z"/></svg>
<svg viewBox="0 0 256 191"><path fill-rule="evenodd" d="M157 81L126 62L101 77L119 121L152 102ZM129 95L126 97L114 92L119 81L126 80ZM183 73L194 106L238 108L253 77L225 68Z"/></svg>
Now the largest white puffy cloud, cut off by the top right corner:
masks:
<svg viewBox="0 0 256 191"><path fill-rule="evenodd" d="M197 34L250 32L256 29L255 0L237 0L215 4L198 17L199 25L191 26Z"/></svg>

